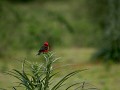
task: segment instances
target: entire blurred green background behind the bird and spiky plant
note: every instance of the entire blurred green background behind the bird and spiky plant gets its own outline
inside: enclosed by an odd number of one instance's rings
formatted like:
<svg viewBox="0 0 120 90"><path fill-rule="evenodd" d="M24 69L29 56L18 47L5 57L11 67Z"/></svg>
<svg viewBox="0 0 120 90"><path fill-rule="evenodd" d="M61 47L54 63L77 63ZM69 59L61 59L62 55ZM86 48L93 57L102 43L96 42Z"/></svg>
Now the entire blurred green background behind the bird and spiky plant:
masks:
<svg viewBox="0 0 120 90"><path fill-rule="evenodd" d="M20 60L40 61L35 55L48 41L62 57L58 65L70 64L63 73L89 68L74 80L119 90L119 23L119 0L1 0L0 88L14 85L4 72L19 69Z"/></svg>

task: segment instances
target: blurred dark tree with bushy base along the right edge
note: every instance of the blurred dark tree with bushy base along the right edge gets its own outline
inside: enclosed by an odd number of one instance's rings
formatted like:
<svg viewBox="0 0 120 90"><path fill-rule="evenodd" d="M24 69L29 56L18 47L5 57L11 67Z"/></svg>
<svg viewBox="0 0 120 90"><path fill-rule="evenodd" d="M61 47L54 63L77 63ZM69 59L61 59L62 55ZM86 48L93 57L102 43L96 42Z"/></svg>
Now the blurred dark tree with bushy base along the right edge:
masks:
<svg viewBox="0 0 120 90"><path fill-rule="evenodd" d="M95 54L95 59L102 59L104 62L120 62L120 1L108 0L108 11L105 12L106 24L104 28L104 43ZM105 22L105 21L104 21Z"/></svg>

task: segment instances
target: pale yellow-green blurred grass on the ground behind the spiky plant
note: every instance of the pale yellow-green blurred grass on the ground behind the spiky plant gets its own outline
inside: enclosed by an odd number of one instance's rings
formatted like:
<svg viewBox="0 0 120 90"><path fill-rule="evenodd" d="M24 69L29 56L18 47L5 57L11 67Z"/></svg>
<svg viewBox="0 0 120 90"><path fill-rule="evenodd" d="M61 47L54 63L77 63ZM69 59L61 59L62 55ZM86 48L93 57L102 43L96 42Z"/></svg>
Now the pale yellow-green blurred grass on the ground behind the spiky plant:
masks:
<svg viewBox="0 0 120 90"><path fill-rule="evenodd" d="M60 73L56 76L56 81L59 80L63 75L68 72L74 71L76 69L85 69L89 70L81 72L75 77L71 78L68 81L69 85L73 82L76 82L80 79L80 81L86 81L99 88L100 90L119 90L120 88L120 66L112 64L111 69L107 71L105 69L104 64L97 63L93 64L89 62L91 54L95 51L90 48L68 48L68 49L55 49L57 56L61 56L61 59L58 63L55 64L56 71ZM13 56L14 58L19 58L19 60L23 60L20 56ZM25 57L25 56L24 56ZM30 59L32 58L32 59ZM36 60L37 59L37 60ZM40 57L35 57L34 53L32 53L31 57L28 57L28 60L39 60ZM9 60L9 61L8 61ZM0 59L0 88L6 88L15 85L16 79L4 75L3 71L11 70L13 68L20 69L21 64L18 59ZM67 87L67 85L64 85ZM63 89L61 89L63 90Z"/></svg>

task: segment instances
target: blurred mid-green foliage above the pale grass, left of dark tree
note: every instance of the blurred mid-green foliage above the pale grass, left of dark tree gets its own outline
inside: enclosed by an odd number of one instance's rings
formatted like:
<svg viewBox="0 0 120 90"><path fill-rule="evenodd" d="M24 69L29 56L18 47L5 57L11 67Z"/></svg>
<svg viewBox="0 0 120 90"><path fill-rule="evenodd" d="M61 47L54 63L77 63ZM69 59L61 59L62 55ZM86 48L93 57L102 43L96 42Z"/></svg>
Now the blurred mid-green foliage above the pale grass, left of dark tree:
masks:
<svg viewBox="0 0 120 90"><path fill-rule="evenodd" d="M48 2L43 4L38 1ZM87 18L92 15L88 14L84 0L49 1L52 0L37 0L34 3L2 2L1 57L8 55L6 51L10 50L31 52L44 41L50 42L53 47L100 46L101 28L98 23L91 23Z"/></svg>

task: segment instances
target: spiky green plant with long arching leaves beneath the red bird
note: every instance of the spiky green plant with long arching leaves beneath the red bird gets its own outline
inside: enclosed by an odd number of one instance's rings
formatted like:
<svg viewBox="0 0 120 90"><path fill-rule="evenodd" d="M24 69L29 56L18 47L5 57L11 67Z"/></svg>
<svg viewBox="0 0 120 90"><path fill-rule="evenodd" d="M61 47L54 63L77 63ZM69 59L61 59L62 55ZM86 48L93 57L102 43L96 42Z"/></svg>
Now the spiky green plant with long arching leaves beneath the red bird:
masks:
<svg viewBox="0 0 120 90"><path fill-rule="evenodd" d="M52 81L54 81L53 77L57 74L53 73L55 69L52 65L59 58L54 58L53 53L44 54L44 58L45 61L43 64L30 63L28 61L24 61L22 64L22 71L13 69L13 71L9 71L7 73L19 80L19 85L14 86L13 90L17 90L17 87L23 87L25 90L58 90L64 85L65 81L67 81L69 78L73 77L79 72L87 70L83 69L73 71L65 75L58 82L52 84ZM27 67L25 65L27 65ZM30 72L27 72L26 70L30 70ZM85 82L74 83L68 86L65 90L69 90L74 86L83 90L85 88L84 84Z"/></svg>

